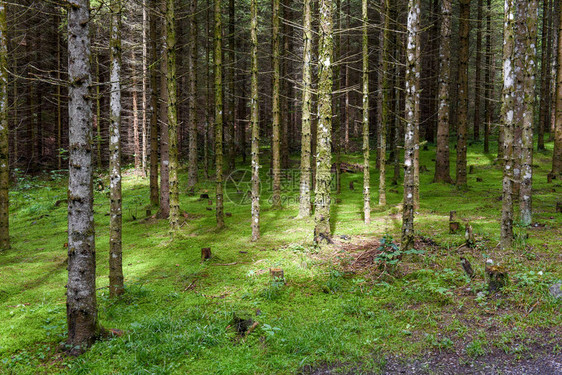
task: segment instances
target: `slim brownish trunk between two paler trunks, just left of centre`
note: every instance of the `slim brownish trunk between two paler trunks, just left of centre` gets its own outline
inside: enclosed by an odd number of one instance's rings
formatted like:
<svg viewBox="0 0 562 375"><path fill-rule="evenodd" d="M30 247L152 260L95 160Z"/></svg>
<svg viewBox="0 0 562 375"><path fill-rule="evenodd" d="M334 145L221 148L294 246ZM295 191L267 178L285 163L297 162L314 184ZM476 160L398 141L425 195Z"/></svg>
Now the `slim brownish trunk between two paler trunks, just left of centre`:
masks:
<svg viewBox="0 0 562 375"><path fill-rule="evenodd" d="M272 177L273 195L271 197L274 208L281 207L281 40L279 36L279 0L272 0L272 53L273 53L273 82L272 82Z"/></svg>

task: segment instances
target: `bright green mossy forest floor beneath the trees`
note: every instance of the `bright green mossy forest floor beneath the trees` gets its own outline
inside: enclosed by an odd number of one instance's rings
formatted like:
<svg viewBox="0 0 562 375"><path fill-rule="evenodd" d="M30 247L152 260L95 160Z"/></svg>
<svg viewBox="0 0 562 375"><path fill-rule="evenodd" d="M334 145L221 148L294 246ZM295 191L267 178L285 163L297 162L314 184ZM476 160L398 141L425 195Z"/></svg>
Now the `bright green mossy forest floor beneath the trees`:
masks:
<svg viewBox="0 0 562 375"><path fill-rule="evenodd" d="M296 219L296 204L269 209L266 186L260 241L249 241L249 206L228 199L225 211L232 217L224 230L215 229L214 211L207 210L207 200L199 200L206 191L213 199L212 182L200 183L195 196L182 191L188 218L171 238L167 221L145 220L147 180L129 174L123 193L126 294L116 300L106 289L108 199L104 191L95 193L100 321L124 334L97 342L79 358L58 349L65 338L67 234L66 205L55 203L66 197L65 178L52 173L19 179L10 192L13 246L0 253L0 372L287 374L330 363L343 369L361 363L362 370L376 371L387 356L430 350L466 358L494 348L523 356L537 343L560 350L562 303L547 288L562 279L562 214L555 213L562 181L546 183L552 144L547 147L534 161L534 222L539 225L517 227L514 248L506 252L497 247L501 170L493 157L482 153L482 144L472 145L468 164L474 174L469 187L458 190L431 183L434 149L422 151L421 164L429 172L421 175L416 231L435 244L422 246L423 255L404 258L393 275L381 275L375 265L347 272L352 254L312 246L313 220ZM343 159L358 162L360 155ZM185 182L186 171L180 172ZM263 173L265 180L265 168ZM336 238L350 240L340 242L384 234L399 238L402 188L389 185L388 205L377 207L378 175L371 177L373 222L365 226L362 174L342 176L332 227ZM352 180L354 191L348 188ZM285 196L296 197L297 190ZM451 210L474 227L475 248L459 247L462 233L449 234ZM201 262L202 247L212 248L213 259ZM472 281L460 266L461 255L475 268ZM478 295L485 289L487 258L501 262L510 274L511 284L501 294ZM270 281L270 267L284 269L285 285ZM260 324L240 339L227 329L233 314Z"/></svg>

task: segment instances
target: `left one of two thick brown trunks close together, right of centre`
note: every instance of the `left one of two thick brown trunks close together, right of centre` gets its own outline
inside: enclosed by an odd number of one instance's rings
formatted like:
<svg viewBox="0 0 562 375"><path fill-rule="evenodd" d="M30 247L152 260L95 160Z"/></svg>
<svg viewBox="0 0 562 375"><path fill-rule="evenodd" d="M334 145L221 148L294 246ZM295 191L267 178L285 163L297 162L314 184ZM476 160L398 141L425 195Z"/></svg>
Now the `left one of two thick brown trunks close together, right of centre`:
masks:
<svg viewBox="0 0 562 375"><path fill-rule="evenodd" d="M449 83L451 77L451 0L441 2L441 48L439 50L439 109L434 182L453 183L449 164Z"/></svg>

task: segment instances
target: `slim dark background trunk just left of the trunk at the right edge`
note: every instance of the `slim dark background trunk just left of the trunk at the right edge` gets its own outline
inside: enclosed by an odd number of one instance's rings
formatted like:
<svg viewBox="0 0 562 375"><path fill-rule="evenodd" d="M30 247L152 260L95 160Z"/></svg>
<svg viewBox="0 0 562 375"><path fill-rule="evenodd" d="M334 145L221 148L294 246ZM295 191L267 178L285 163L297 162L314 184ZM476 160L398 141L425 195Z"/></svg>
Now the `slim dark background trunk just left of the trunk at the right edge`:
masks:
<svg viewBox="0 0 562 375"><path fill-rule="evenodd" d="M537 150L544 151L544 130L548 126L550 112L550 61L552 59L552 38L550 30L552 0L543 0L541 37L541 91L539 123L537 124Z"/></svg>

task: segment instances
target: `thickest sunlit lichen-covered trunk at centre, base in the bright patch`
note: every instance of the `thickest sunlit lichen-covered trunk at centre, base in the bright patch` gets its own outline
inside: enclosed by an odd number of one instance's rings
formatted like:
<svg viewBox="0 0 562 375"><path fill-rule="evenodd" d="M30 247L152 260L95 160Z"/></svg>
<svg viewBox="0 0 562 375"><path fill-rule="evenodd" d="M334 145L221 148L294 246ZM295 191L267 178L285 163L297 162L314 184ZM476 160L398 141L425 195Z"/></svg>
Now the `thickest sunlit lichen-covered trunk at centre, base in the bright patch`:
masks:
<svg viewBox="0 0 562 375"><path fill-rule="evenodd" d="M363 0L366 1L366 0ZM318 46L318 128L315 186L314 241L330 242L330 181L332 138L332 2L320 0Z"/></svg>

